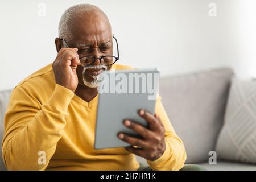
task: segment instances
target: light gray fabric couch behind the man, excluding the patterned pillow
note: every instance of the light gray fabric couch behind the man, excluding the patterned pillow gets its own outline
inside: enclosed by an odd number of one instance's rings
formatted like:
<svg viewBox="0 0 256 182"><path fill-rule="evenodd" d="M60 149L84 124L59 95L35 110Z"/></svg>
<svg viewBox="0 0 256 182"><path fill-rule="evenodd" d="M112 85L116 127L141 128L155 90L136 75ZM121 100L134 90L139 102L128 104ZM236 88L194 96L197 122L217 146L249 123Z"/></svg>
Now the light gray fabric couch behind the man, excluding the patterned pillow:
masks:
<svg viewBox="0 0 256 182"><path fill-rule="evenodd" d="M160 96L176 133L183 140L187 162L208 170L256 170L256 165L218 159L210 165L209 152L214 151L223 124L230 81L230 68L214 69L188 75L163 77ZM0 92L0 139L3 135L3 114L10 90ZM146 164L146 160L138 161ZM5 169L0 156L0 170Z"/></svg>

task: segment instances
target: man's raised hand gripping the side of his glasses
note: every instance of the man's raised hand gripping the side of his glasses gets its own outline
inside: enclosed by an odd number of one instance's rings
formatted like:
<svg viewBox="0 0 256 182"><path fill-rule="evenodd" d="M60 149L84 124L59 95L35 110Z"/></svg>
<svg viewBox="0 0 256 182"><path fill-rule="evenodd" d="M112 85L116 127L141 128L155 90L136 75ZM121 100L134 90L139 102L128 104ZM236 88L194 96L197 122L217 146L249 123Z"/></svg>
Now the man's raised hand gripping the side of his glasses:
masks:
<svg viewBox="0 0 256 182"><path fill-rule="evenodd" d="M75 92L78 85L77 65L80 65L77 48L61 48L52 64L56 84Z"/></svg>

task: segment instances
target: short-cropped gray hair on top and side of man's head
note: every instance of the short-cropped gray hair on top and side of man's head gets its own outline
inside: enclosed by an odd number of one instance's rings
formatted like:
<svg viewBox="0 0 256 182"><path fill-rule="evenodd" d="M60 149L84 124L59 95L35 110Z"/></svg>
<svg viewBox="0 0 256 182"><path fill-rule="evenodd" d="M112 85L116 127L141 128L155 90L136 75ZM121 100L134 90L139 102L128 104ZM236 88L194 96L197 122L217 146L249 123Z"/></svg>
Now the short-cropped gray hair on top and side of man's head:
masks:
<svg viewBox="0 0 256 182"><path fill-rule="evenodd" d="M93 13L93 14L96 14L96 12L98 12L106 16L106 14L100 8L94 5L80 4L80 5L71 6L64 11L63 15L60 18L59 38L63 38L67 40L72 39L72 34L70 31L71 27L69 22L72 20L73 15L79 14L79 13L86 13L86 12ZM107 16L106 16L106 19L108 19ZM110 23L109 23L109 26L110 26Z"/></svg>

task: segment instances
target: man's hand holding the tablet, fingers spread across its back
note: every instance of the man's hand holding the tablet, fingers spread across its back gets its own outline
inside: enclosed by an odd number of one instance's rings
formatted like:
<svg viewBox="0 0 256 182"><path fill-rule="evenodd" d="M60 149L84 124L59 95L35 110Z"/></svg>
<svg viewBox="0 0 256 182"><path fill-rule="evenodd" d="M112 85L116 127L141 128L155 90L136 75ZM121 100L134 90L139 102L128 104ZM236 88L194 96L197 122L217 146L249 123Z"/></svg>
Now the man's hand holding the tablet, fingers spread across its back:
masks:
<svg viewBox="0 0 256 182"><path fill-rule="evenodd" d="M125 148L127 151L147 160L156 160L162 156L166 149L164 126L156 114L154 116L142 109L139 110L139 115L149 123L149 129L129 119L126 119L123 123L129 129L141 135L143 139L134 138L124 133L119 133L118 138L131 144L131 147ZM137 146L137 148L133 146Z"/></svg>

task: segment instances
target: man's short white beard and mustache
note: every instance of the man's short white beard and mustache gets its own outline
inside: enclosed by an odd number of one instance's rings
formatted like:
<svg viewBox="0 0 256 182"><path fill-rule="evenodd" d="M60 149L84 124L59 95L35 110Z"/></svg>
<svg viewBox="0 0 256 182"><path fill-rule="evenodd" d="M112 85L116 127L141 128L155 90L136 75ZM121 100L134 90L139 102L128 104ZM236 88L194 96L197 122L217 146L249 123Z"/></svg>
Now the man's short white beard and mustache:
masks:
<svg viewBox="0 0 256 182"><path fill-rule="evenodd" d="M90 75L90 77L92 77L92 81L88 81L86 80L85 76L84 76L84 72L86 71L86 69L101 69L101 68L105 68L107 69L108 67L104 66L104 65L89 65L87 67L84 67L84 69L82 70L82 81L84 82L84 84L86 86L88 86L89 88L96 88L98 87L98 85L100 85L100 74L99 75Z"/></svg>

